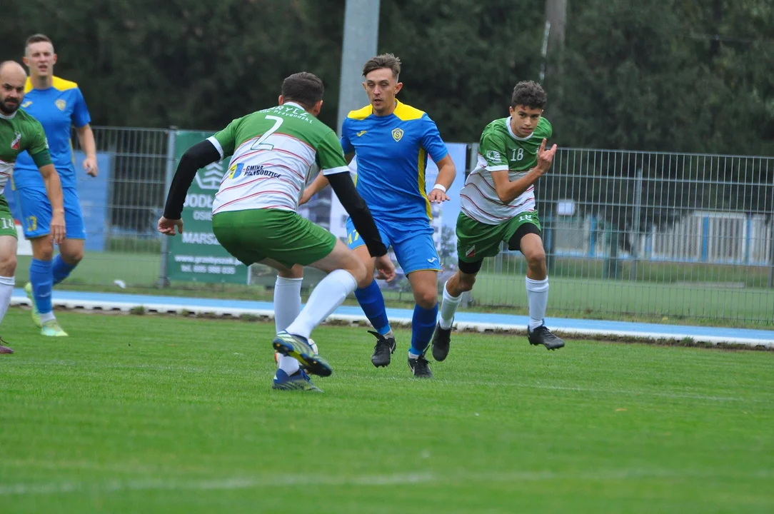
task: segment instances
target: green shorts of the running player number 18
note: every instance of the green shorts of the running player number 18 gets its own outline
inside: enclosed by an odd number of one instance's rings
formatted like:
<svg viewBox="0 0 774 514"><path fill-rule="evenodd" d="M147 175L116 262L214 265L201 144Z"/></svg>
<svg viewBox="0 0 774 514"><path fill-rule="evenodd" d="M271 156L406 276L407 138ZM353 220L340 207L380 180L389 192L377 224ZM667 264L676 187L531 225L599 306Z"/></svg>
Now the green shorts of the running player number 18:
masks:
<svg viewBox="0 0 774 514"><path fill-rule="evenodd" d="M537 211L522 212L501 224L481 223L465 214L457 217L457 258L462 262L478 262L500 252L500 242L509 242L522 224L531 223L540 230Z"/></svg>

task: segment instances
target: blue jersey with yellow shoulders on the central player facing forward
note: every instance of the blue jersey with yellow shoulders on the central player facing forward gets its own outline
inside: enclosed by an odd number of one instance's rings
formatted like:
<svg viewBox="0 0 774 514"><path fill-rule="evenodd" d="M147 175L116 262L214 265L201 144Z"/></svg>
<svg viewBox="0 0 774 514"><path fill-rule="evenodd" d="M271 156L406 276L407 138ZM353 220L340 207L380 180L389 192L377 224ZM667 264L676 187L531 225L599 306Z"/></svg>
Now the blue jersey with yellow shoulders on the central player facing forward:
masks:
<svg viewBox="0 0 774 514"><path fill-rule="evenodd" d="M437 163L448 150L425 112L401 102L389 116L374 115L371 105L351 111L341 146L358 159L358 193L374 218L430 221L427 156Z"/></svg>

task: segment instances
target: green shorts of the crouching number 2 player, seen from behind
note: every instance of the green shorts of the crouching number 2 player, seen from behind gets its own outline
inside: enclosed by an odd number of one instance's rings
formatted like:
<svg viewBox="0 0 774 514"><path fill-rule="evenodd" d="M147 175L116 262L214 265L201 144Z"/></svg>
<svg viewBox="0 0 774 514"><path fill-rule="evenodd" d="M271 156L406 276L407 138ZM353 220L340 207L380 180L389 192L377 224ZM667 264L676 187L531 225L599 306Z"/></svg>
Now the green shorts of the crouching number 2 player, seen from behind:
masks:
<svg viewBox="0 0 774 514"><path fill-rule="evenodd" d="M307 266L333 251L336 236L293 211L249 209L212 217L217 241L245 266L274 259L288 268Z"/></svg>

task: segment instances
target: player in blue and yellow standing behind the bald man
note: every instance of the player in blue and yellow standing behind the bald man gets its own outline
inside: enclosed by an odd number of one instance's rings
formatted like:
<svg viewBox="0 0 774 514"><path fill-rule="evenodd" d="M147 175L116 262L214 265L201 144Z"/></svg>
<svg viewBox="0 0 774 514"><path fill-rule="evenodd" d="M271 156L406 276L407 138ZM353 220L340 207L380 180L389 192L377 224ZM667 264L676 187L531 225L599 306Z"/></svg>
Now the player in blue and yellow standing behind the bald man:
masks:
<svg viewBox="0 0 774 514"><path fill-rule="evenodd" d="M29 265L29 283L24 290L33 303L33 323L46 336L67 336L57 323L51 308L51 289L62 282L84 257L84 218L76 189L73 149L70 144L74 126L80 147L86 153L83 167L90 176L97 176L97 147L89 123L91 117L78 84L53 74L57 54L51 39L36 34L26 42L24 63L29 79L22 109L37 118L46 130L51 159L60 173L64 195L64 218L67 235L59 244L59 255L53 258L50 235L51 203L46 197L43 180L28 154L19 156L13 173L12 187L22 211L24 235L33 245L33 261ZM52 260L53 259L53 260Z"/></svg>

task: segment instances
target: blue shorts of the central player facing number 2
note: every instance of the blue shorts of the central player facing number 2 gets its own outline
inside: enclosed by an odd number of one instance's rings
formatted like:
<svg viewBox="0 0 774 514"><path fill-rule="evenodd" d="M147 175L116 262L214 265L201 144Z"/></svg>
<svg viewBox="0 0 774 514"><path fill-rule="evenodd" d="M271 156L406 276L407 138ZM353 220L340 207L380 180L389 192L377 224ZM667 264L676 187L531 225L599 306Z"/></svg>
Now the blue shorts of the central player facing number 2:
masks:
<svg viewBox="0 0 774 514"><path fill-rule="evenodd" d="M440 271L440 259L433 242L433 228L427 221L412 221L398 224L394 221L385 222L374 219L382 242L398 259L399 266L408 275L422 269ZM347 218L347 246L354 250L365 245L358 231L354 229L351 218Z"/></svg>

